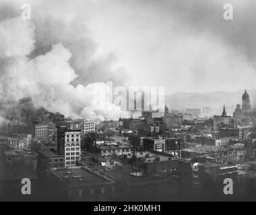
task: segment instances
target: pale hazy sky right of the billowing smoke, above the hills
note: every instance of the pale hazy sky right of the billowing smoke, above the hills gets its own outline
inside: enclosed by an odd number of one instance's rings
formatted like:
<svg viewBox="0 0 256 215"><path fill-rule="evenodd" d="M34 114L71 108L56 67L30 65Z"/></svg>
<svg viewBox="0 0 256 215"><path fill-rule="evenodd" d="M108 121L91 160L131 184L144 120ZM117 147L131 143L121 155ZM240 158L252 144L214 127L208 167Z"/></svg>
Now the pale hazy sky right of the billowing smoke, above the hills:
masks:
<svg viewBox="0 0 256 215"><path fill-rule="evenodd" d="M234 19L223 18L232 3ZM255 88L256 2L251 0L90 1L88 29L114 52L131 85L176 91Z"/></svg>

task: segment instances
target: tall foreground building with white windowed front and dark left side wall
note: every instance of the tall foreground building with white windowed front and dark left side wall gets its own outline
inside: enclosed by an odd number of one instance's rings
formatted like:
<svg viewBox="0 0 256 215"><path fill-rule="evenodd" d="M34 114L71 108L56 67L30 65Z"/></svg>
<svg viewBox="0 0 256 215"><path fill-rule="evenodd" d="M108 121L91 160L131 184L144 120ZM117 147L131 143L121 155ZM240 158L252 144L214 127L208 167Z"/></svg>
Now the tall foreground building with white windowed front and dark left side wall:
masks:
<svg viewBox="0 0 256 215"><path fill-rule="evenodd" d="M81 158L81 131L61 126L57 131L57 140L58 153L65 155L65 167L75 167L75 161Z"/></svg>

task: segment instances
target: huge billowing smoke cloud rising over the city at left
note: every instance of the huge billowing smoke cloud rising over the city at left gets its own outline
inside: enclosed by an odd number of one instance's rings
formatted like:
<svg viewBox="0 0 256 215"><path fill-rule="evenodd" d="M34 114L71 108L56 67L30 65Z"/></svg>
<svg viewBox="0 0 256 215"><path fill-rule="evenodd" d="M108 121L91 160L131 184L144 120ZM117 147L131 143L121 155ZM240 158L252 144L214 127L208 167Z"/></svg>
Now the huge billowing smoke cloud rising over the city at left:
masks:
<svg viewBox="0 0 256 215"><path fill-rule="evenodd" d="M98 54L86 20L79 17L83 11L65 17L72 1L27 2L31 20L21 17L22 1L0 1L1 116L24 123L63 115L91 120L127 116L111 103L112 111L96 112L92 105L95 87L106 87L106 81L125 85L127 73L115 67L115 54Z"/></svg>

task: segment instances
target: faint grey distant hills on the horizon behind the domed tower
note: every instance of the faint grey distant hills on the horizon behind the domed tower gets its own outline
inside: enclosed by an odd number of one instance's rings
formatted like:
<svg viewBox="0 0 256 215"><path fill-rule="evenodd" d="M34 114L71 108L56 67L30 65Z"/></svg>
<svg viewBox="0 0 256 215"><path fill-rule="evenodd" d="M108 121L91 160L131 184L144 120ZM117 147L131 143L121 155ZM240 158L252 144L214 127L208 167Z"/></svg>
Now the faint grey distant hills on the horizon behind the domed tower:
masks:
<svg viewBox="0 0 256 215"><path fill-rule="evenodd" d="M251 104L256 107L256 90L248 90ZM217 91L213 93L174 93L166 95L165 103L170 109L184 109L189 107L213 107L220 108L224 104L228 107L236 107L237 103L242 104L242 95L244 90L224 92Z"/></svg>

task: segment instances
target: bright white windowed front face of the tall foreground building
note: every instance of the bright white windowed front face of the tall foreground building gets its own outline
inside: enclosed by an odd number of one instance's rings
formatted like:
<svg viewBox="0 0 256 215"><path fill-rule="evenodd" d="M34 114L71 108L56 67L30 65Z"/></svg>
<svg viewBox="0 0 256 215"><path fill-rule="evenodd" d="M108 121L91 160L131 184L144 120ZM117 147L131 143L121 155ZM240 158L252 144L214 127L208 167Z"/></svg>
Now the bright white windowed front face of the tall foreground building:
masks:
<svg viewBox="0 0 256 215"><path fill-rule="evenodd" d="M75 167L75 161L81 159L81 132L71 130L65 132L65 167Z"/></svg>

